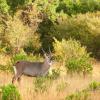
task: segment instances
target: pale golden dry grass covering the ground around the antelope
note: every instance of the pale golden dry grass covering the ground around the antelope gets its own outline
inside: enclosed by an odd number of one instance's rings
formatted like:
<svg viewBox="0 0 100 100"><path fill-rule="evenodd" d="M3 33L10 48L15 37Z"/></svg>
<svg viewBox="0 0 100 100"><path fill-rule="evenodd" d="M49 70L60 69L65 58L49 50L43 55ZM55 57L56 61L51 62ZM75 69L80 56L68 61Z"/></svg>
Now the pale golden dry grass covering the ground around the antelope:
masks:
<svg viewBox="0 0 100 100"><path fill-rule="evenodd" d="M47 92L35 92L34 83L35 78L23 76L21 83L15 83L20 91L22 100L64 100L67 95L75 93L85 89L92 81L100 82L100 62L93 64L92 76L83 78L75 75L70 77L68 75L62 75L57 80L54 80L52 86L48 88ZM10 84L12 74L9 72L0 72L0 86ZM60 87L60 84L66 83L65 86ZM100 100L100 91L90 92L90 100Z"/></svg>

